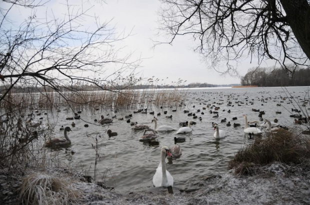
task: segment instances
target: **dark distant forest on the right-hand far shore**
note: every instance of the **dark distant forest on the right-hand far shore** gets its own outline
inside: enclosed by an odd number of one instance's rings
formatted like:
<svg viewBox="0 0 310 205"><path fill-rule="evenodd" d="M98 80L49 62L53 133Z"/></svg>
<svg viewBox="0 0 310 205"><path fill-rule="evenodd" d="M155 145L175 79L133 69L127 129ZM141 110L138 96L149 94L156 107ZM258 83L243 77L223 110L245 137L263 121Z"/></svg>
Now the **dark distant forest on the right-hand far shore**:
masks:
<svg viewBox="0 0 310 205"><path fill-rule="evenodd" d="M241 77L241 85L274 86L309 86L310 68L296 68L293 74L282 68L251 68Z"/></svg>

